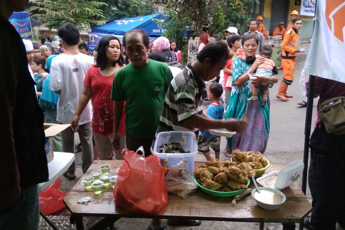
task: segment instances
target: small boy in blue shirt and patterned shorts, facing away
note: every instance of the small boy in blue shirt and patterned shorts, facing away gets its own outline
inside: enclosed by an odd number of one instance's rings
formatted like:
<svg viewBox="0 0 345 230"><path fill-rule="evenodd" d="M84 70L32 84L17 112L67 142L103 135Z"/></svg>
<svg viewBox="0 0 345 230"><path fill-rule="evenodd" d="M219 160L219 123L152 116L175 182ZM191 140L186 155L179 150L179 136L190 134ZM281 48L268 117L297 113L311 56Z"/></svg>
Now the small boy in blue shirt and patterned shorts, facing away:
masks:
<svg viewBox="0 0 345 230"><path fill-rule="evenodd" d="M224 105L219 100L219 97L223 93L223 86L219 83L213 83L210 86L209 99L212 103L207 108L206 114L212 119L222 119L224 113ZM204 156L209 161L210 157L209 147L215 151L215 157L219 159L220 152L220 137L209 133L208 130L200 130L201 134L198 138L198 151L204 153Z"/></svg>

